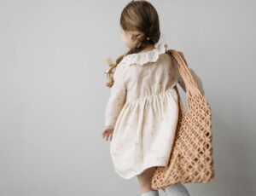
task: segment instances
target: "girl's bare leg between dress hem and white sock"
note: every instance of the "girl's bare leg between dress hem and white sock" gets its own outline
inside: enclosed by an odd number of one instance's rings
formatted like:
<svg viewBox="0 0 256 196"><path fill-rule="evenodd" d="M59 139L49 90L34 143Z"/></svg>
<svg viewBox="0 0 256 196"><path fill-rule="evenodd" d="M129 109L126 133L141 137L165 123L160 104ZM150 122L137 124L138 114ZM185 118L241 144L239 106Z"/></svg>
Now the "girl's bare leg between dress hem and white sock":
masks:
<svg viewBox="0 0 256 196"><path fill-rule="evenodd" d="M156 167L150 167L143 171L143 173L137 175L137 181L139 183L140 192L147 193L150 191L155 191L151 186L152 177L154 176L154 170Z"/></svg>

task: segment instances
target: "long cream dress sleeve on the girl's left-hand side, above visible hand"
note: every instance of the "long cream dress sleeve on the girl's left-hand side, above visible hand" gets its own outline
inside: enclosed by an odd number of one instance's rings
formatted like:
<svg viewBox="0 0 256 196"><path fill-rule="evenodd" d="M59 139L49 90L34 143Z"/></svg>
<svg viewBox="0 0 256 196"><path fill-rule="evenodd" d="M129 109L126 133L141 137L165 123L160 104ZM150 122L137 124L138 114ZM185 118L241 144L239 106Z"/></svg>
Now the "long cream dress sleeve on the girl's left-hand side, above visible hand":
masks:
<svg viewBox="0 0 256 196"><path fill-rule="evenodd" d="M124 82L124 68L120 65L116 66L113 72L113 86L108 98L107 107L105 110L105 129L113 129L119 112L125 105L126 88Z"/></svg>

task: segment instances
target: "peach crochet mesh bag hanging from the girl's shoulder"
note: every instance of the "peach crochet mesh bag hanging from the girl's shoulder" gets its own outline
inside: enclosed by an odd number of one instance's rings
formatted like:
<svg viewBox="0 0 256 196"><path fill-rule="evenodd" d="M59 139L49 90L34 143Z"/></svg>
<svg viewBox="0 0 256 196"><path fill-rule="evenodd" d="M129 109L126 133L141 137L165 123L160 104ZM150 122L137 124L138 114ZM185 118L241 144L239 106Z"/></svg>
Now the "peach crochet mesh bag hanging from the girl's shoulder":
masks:
<svg viewBox="0 0 256 196"><path fill-rule="evenodd" d="M172 153L167 166L158 166L152 178L152 188L159 189L178 182L212 182L214 178L212 158L212 112L209 103L201 95L189 72L183 54L169 49L178 64L178 70L186 87L188 112L177 90L179 114Z"/></svg>

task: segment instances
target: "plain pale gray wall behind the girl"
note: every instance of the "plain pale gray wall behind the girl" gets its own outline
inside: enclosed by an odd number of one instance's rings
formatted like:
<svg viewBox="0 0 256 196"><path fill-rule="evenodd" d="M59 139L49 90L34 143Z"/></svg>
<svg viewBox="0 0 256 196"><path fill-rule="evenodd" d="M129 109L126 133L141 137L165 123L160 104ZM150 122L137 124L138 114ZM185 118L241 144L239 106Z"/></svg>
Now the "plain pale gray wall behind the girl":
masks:
<svg viewBox="0 0 256 196"><path fill-rule="evenodd" d="M255 196L255 2L154 0L161 41L212 106L212 183L191 195ZM0 195L140 195L102 140L105 59L125 52L122 1L0 1ZM163 195L161 193L161 195Z"/></svg>

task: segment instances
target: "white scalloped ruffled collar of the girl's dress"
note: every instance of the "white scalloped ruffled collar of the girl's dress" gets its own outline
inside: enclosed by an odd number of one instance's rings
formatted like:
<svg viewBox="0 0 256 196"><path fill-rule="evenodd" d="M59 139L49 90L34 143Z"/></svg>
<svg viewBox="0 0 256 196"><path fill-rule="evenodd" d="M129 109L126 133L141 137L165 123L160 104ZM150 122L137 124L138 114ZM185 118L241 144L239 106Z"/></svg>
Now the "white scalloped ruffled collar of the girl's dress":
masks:
<svg viewBox="0 0 256 196"><path fill-rule="evenodd" d="M145 65L148 62L155 62L159 59L159 56L161 54L166 53L167 49L166 43L155 43L154 49L151 49L146 52L141 53L135 53L131 55L126 55L122 61L120 61L120 64L129 64L130 66L133 64L137 64L140 66Z"/></svg>

